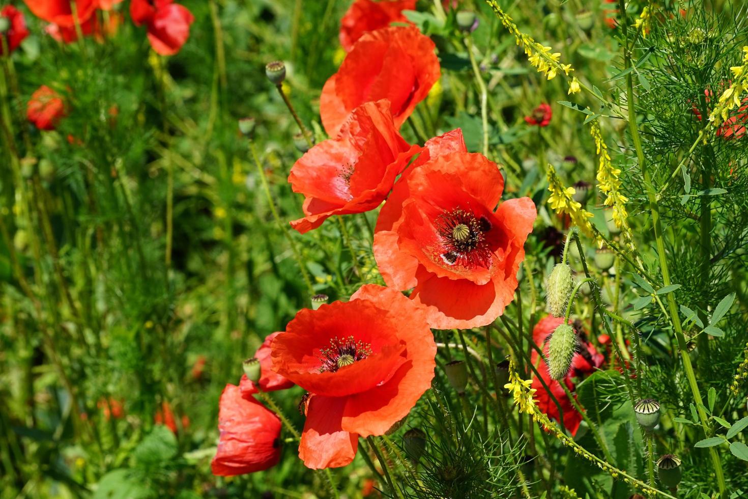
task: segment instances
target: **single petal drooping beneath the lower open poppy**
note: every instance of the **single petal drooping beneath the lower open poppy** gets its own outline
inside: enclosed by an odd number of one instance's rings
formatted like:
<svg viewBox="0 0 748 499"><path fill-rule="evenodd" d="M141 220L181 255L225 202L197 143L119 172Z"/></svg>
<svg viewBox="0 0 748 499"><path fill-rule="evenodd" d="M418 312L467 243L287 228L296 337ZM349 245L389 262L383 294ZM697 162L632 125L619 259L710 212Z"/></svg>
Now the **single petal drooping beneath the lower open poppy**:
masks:
<svg viewBox="0 0 748 499"><path fill-rule="evenodd" d="M339 468L349 465L355 458L358 435L340 426L345 405L345 397L315 395L310 400L298 445L298 457L307 468Z"/></svg>

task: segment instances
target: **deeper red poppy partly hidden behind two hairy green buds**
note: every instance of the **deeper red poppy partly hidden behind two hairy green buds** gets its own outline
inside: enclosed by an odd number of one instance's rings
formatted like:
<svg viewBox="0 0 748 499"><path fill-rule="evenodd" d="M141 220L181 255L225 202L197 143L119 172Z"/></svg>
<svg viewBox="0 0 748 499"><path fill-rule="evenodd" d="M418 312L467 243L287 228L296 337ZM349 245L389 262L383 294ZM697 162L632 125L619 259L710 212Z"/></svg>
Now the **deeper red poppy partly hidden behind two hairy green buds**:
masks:
<svg viewBox="0 0 748 499"><path fill-rule="evenodd" d="M562 317L554 317L549 315L545 316L543 319L540 319L540 321L535 325L535 328L533 329L533 340L535 341L539 349L545 351L545 341L549 336L551 336L551 334L554 332L554 329L556 329L562 323ZM566 429L568 429L569 432L571 432L571 435L576 435L577 429L579 429L579 425L582 421L582 414L579 414L579 412L577 412L577 410L574 408L574 405L571 403L571 400L568 399L561 383L555 379L552 379L551 375L548 374L548 366L546 366L545 362L539 358L538 352L533 350L531 361L540 373L540 376L542 377L543 382L545 382L545 385L547 385L550 389L551 394L553 394L553 396L558 401L558 405L556 405L554 399L550 394L548 394L548 391L545 390L543 383L540 382L537 376L535 376L535 374L533 373L532 388L536 389L534 398L536 404L538 405L538 408L549 418L555 419L557 421L561 420L560 414L562 414L563 425L566 427ZM594 346L586 342L586 340L580 339L580 346L578 347L577 353L574 354L574 358L572 358L571 360L571 370L562 380L565 383L566 388L568 388L568 391L574 391L575 387L574 382L572 381L574 377L586 376L593 373L598 367L602 365L603 361L603 355L598 353L597 349L595 349ZM574 400L576 399L577 396L576 394L574 394ZM561 408L561 413L559 412L559 405Z"/></svg>

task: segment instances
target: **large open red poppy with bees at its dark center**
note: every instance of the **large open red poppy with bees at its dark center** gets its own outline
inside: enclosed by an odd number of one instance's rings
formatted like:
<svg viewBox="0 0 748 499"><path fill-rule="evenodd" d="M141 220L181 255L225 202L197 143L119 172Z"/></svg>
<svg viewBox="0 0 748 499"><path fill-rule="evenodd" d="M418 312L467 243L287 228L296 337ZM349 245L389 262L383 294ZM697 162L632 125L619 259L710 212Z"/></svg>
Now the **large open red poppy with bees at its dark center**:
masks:
<svg viewBox="0 0 748 499"><path fill-rule="evenodd" d="M384 282L414 288L411 299L432 328L473 328L503 313L537 214L530 198L499 204L504 180L497 165L465 151L459 129L426 142L375 229Z"/></svg>

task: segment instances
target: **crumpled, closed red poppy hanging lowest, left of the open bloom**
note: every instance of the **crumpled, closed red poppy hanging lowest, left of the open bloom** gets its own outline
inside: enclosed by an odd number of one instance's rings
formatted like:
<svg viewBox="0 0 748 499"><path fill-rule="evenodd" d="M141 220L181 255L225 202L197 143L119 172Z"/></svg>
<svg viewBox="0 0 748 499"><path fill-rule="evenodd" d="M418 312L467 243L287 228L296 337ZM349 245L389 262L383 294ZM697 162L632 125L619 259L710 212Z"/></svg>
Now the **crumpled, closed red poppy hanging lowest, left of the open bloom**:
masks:
<svg viewBox="0 0 748 499"><path fill-rule="evenodd" d="M230 477L263 471L281 459L281 420L239 387L226 385L218 402L218 450L214 475Z"/></svg>

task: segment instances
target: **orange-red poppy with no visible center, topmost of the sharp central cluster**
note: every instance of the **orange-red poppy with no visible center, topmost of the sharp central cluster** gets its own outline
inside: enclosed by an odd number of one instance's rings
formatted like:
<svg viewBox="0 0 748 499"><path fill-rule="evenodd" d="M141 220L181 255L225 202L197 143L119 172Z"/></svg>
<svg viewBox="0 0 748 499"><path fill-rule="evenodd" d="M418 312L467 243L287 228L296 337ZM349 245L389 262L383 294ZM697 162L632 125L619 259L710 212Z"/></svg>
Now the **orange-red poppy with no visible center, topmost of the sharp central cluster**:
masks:
<svg viewBox="0 0 748 499"><path fill-rule="evenodd" d="M434 48L434 42L413 26L364 34L322 88L319 114L328 135L337 135L359 105L380 99L390 101L399 129L439 79Z"/></svg>

